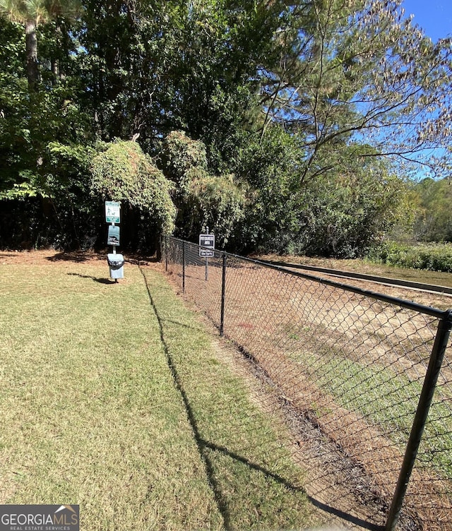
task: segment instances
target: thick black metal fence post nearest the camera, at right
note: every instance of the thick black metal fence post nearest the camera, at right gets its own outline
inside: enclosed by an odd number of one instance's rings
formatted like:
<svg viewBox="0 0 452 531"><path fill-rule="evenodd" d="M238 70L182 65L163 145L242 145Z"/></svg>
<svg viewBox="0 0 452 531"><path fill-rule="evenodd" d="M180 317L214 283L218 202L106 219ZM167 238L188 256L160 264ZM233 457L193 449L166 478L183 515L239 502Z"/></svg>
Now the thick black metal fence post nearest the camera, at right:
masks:
<svg viewBox="0 0 452 531"><path fill-rule="evenodd" d="M436 382L438 381L439 371L443 363L444 352L446 351L448 338L452 328L452 310L448 311L446 318L439 321L438 330L436 330L435 342L432 348L432 354L429 359L427 374L425 375L424 385L417 405L415 419L412 424L410 438L408 439L405 457L403 458L402 467L398 477L396 491L394 492L391 509L386 520L385 531L394 531L396 529L398 517L403 506L403 500L408 489L408 482L412 469L415 465L417 451L419 450L425 423L432 405Z"/></svg>

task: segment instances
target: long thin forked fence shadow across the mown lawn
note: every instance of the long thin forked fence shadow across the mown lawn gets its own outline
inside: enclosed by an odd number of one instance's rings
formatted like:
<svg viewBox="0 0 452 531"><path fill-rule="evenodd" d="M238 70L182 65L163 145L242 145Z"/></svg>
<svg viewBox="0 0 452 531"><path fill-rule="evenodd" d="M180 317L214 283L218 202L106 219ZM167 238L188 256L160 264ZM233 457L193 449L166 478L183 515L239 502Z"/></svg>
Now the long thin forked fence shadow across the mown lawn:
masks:
<svg viewBox="0 0 452 531"><path fill-rule="evenodd" d="M208 456L208 452L207 452L208 450L222 453L223 455L227 455L228 457L234 460L237 460L240 463L246 465L247 467L249 467L250 470L256 470L257 472L261 472L263 475L265 475L269 479L273 479L275 482L283 484L287 489L290 489L291 491L299 491L300 493L306 494L306 491L302 487L298 487L292 484L291 482L287 481L287 479L285 479L284 477L278 474L275 474L274 472L271 472L270 470L267 470L265 467L262 467L261 465L258 465L257 463L251 462L250 460L244 458L242 455L239 455L237 453L234 453L228 450L225 446L219 446L218 444L212 443L210 441L206 441L204 438L201 437L201 434L198 429L198 424L196 422L194 411L191 407L186 391L184 390L184 386L182 385L182 381L177 372L177 368L174 365L174 361L172 359L171 353L169 352L169 347L167 345L167 342L165 341L165 332L163 329L162 318L160 317L160 314L157 311L157 306L155 306L153 296L150 293L150 287L148 285L148 280L145 278L145 274L143 273L143 270L141 270L141 268L140 268L140 271L141 271L141 274L143 275L146 290L148 291L150 306L152 307L155 317L157 318L157 322L158 322L159 330L160 330L160 340L162 342L165 355L167 357L167 364L169 367L169 371L172 374L174 386L179 391L182 397L182 400L184 402L186 414L187 414L189 423L191 425L191 429L194 434L196 446L198 447L198 453L204 464L206 475L212 487L213 494L215 497L215 502L217 503L218 511L222 515L225 529L232 530L234 529L235 526L234 526L234 523L232 522L231 514L227 506L227 502L225 501L225 496L223 496L222 494L220 483L215 477L214 466ZM180 323L177 323L177 324L180 324ZM321 511L334 515L335 517L341 518L342 520L346 522L359 525L359 527L362 527L363 529L367 529L369 531L381 531L382 530L382 527L379 525L369 523L366 520L362 520L362 518L357 518L356 516L351 515L350 513L345 513L344 511L340 511L340 509L338 508L328 506L326 503L322 503L321 501L314 499L312 496L307 496L307 499L312 503L313 506L315 506L316 508L319 508Z"/></svg>

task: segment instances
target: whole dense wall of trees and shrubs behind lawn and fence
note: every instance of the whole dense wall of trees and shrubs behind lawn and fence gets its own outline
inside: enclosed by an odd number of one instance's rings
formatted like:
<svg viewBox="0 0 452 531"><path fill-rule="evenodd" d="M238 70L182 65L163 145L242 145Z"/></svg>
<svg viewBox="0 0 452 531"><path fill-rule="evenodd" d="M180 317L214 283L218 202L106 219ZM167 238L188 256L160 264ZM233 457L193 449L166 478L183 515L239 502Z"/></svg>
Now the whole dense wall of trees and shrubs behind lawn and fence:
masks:
<svg viewBox="0 0 452 531"><path fill-rule="evenodd" d="M113 200L126 250L362 255L450 171L451 42L400 3L0 0L0 246L105 247Z"/></svg>

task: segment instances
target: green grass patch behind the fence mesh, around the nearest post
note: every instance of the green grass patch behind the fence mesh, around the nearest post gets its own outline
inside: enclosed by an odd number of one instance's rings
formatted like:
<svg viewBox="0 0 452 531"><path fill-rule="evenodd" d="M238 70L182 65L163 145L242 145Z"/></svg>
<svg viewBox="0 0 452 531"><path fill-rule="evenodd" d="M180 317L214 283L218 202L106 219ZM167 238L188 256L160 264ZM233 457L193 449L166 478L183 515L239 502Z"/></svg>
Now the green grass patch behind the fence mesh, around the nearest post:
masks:
<svg viewBox="0 0 452 531"><path fill-rule="evenodd" d="M322 359L316 376L319 386L328 390L339 405L382 426L400 450L405 450L422 382L410 381L378 364L364 365L341 357ZM418 458L448 480L452 479L451 434L450 395L436 393Z"/></svg>

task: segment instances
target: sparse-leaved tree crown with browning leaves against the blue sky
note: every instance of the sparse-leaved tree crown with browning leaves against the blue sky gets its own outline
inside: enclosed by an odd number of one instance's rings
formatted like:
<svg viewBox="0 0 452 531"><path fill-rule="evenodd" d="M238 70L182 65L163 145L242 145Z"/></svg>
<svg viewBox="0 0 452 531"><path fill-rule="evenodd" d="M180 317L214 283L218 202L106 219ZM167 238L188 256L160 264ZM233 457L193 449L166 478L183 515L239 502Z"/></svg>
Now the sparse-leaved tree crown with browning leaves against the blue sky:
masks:
<svg viewBox="0 0 452 531"><path fill-rule="evenodd" d="M344 142L371 145L401 172L413 162L448 170L451 138L451 40L437 44L403 19L400 0L291 2L275 34L279 61L263 70L266 124L304 139L301 179L331 168L325 153ZM352 154L351 154L352 155ZM316 162L317 161L317 162Z"/></svg>

